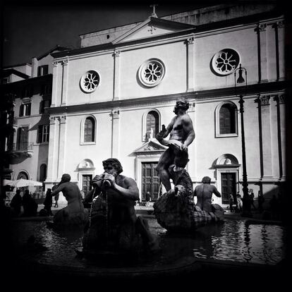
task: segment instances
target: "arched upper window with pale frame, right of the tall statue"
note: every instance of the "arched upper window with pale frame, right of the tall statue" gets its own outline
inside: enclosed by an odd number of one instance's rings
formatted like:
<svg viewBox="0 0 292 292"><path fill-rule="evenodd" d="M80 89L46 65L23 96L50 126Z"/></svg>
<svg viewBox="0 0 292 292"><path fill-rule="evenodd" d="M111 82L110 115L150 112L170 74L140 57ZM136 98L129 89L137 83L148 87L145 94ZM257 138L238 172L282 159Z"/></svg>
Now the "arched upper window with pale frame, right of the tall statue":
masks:
<svg viewBox="0 0 292 292"><path fill-rule="evenodd" d="M233 102L220 104L216 111L216 137L237 136L237 107Z"/></svg>

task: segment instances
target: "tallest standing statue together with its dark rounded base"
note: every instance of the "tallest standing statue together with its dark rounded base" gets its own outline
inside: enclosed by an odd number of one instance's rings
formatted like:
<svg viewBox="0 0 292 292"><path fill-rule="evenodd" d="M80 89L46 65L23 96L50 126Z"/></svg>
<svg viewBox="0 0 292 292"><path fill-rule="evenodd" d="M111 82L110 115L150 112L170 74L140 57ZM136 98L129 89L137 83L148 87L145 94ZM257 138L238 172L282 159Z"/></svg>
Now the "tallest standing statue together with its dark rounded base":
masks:
<svg viewBox="0 0 292 292"><path fill-rule="evenodd" d="M216 195L219 194L213 186L208 185L208 191L207 188L206 190L204 188L203 192L199 192L200 188L196 188L195 195L200 197L200 203L197 206L194 204L193 181L185 171L185 166L189 161L188 145L195 139L193 123L186 113L188 107L186 99L178 99L174 108L176 116L167 128L163 125L162 131L156 135L157 140L169 148L162 154L157 165L157 171L166 188L166 193L154 203L154 215L162 227L174 232L195 231L213 221L223 221L224 219L224 210L219 205L207 204L207 202L211 202L209 189L212 189ZM169 140L165 140L164 138L169 133ZM171 190L170 179L174 183L174 190ZM204 197L202 204L201 197Z"/></svg>

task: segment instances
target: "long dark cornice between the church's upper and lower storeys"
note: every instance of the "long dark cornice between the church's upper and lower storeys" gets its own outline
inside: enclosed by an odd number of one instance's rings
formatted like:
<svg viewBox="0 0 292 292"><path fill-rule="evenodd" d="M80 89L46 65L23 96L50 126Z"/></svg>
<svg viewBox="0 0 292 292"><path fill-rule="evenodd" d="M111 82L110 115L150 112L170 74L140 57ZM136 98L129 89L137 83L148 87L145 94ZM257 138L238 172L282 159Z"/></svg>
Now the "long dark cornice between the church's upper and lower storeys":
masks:
<svg viewBox="0 0 292 292"><path fill-rule="evenodd" d="M220 97L230 97L238 95L262 95L270 94L270 92L277 92L286 90L288 85L291 87L291 83L287 81L275 82L275 83L264 83L248 85L245 89L244 86L236 87L236 94L234 87L220 88L216 90L201 90L195 92L181 92L173 95L159 95L152 97L138 97L131 99L118 99L111 100L109 102L97 102L92 104L76 104L68 105L64 107L51 107L48 109L50 115L59 114L71 114L80 113L87 111L110 111L112 109L127 109L133 107L145 107L151 104L152 107L155 105L169 104L176 102L179 97L185 97L190 101L200 102L204 100L218 99Z"/></svg>

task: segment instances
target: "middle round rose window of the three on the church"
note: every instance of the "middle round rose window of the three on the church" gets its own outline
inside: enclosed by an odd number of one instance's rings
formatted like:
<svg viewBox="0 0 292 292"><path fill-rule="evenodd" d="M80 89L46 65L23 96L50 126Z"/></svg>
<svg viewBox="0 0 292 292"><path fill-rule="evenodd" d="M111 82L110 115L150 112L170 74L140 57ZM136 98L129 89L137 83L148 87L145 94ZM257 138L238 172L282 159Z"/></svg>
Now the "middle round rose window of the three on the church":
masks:
<svg viewBox="0 0 292 292"><path fill-rule="evenodd" d="M154 87L164 78L165 66L158 59L150 59L139 68L140 82L147 87Z"/></svg>

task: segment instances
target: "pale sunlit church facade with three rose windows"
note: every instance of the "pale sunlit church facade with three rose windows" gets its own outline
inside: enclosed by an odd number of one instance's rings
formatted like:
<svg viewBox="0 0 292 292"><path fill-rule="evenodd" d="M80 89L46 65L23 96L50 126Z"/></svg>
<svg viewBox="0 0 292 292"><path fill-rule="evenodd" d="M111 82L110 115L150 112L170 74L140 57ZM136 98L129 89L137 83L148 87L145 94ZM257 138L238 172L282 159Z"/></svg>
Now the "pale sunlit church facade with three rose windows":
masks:
<svg viewBox="0 0 292 292"><path fill-rule="evenodd" d="M208 10L209 9L209 10ZM284 16L272 6L213 6L81 35L52 54L47 188L64 173L84 193L115 157L140 200L163 193L155 139L188 99L195 140L186 169L194 187L212 178L221 198L242 193L243 99L248 188L267 199L286 179ZM238 80L239 78L239 80ZM240 81L241 83L238 83ZM62 197L62 196L61 196ZM61 200L61 198L60 198Z"/></svg>

